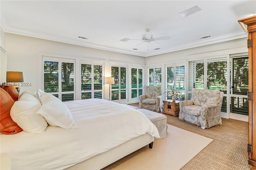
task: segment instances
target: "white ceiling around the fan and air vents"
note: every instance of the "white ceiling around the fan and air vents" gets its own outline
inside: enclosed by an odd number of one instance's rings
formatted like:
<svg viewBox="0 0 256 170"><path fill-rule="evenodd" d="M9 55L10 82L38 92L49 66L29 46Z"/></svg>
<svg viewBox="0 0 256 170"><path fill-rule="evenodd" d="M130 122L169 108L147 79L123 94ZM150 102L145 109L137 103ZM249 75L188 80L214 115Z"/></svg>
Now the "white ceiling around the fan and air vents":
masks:
<svg viewBox="0 0 256 170"><path fill-rule="evenodd" d="M196 5L202 10L179 15ZM246 37L238 20L256 13L256 0L1 0L0 7L5 32L148 57ZM170 39L120 41L142 39L145 29Z"/></svg>

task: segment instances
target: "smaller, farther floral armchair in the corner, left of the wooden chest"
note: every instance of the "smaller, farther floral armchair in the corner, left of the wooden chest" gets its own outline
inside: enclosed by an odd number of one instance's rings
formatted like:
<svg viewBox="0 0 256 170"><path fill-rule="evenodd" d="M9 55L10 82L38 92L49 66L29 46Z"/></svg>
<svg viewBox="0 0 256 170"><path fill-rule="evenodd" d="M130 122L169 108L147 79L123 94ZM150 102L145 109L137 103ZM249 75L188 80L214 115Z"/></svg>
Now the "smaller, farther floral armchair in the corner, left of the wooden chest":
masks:
<svg viewBox="0 0 256 170"><path fill-rule="evenodd" d="M143 93L139 96L140 108L160 112L161 86L144 86Z"/></svg>

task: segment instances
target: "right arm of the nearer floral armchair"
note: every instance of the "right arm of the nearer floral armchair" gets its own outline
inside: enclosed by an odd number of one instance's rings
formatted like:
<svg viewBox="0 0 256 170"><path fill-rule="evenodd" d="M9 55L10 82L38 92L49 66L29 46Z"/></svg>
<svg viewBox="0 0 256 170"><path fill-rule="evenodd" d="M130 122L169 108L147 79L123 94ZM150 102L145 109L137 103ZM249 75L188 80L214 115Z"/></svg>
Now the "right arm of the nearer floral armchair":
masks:
<svg viewBox="0 0 256 170"><path fill-rule="evenodd" d="M201 109L201 117L203 119L209 118L209 114L213 113L213 117L218 117L220 115L220 110L221 110L221 105L222 104L205 104L202 106Z"/></svg>

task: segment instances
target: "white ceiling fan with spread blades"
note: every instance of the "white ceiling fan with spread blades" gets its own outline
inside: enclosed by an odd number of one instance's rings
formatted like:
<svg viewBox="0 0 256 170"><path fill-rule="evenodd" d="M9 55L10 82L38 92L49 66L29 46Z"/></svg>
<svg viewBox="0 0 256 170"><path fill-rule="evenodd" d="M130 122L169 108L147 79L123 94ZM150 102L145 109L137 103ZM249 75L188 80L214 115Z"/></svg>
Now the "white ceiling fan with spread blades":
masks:
<svg viewBox="0 0 256 170"><path fill-rule="evenodd" d="M140 41L143 41L143 42L141 42L141 43L150 43L150 42L152 42L152 41L154 41L155 43L157 43L156 41L160 41L160 40L168 40L168 39L170 39L170 37L156 37L156 38L154 38L153 37L153 35L151 34L151 33L149 33L149 30L150 29L146 29L145 31L146 31L146 33L144 34L144 35L142 35L142 39L129 39L129 38L123 38L123 39L120 39L120 41L124 41L124 42L126 42L126 41L128 41L128 40L140 40ZM150 35L151 34L151 35ZM141 44L141 43L139 43L139 44ZM139 44L137 44L137 45L139 45ZM158 43L159 44L159 43ZM136 45L136 46L137 46Z"/></svg>

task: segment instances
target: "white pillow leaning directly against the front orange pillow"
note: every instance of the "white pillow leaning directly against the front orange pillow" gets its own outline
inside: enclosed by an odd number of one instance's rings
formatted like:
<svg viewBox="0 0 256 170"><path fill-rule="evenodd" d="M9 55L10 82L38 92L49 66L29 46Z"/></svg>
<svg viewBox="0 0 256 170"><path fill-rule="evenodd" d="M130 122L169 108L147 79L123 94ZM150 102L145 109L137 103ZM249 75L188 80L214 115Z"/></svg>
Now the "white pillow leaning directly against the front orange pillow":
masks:
<svg viewBox="0 0 256 170"><path fill-rule="evenodd" d="M36 113L41 106L35 96L24 93L12 106L10 116L24 131L44 133L48 124L42 115Z"/></svg>

